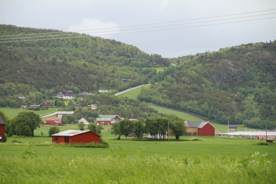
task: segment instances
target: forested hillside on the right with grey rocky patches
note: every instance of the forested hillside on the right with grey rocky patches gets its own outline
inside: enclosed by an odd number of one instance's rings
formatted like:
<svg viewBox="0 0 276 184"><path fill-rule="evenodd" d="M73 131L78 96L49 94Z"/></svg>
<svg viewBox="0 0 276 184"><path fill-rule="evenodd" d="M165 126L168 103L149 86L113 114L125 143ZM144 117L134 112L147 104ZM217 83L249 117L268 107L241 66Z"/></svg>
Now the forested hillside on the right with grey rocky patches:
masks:
<svg viewBox="0 0 276 184"><path fill-rule="evenodd" d="M276 41L175 58L139 100L218 123L276 128Z"/></svg>

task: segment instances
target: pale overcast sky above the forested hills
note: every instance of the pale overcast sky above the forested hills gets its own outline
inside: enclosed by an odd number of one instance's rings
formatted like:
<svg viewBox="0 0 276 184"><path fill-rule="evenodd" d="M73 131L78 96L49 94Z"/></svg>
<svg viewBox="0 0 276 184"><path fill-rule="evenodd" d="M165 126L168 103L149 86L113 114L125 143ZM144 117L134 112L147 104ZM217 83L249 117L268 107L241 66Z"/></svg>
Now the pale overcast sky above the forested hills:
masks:
<svg viewBox="0 0 276 184"><path fill-rule="evenodd" d="M89 30L167 58L273 41L275 17L275 0L0 0L0 24Z"/></svg>

